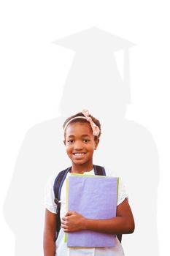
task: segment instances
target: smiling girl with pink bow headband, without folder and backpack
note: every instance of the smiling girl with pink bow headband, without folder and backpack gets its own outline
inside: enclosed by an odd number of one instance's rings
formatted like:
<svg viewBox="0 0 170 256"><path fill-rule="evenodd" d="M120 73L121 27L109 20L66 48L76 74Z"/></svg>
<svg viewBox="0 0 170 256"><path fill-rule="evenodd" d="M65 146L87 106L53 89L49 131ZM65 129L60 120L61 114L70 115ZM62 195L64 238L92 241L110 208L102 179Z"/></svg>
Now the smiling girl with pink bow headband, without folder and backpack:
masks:
<svg viewBox="0 0 170 256"><path fill-rule="evenodd" d="M66 119L63 124L66 153L72 161L70 173L81 173L94 175L93 152L98 147L101 135L100 122L89 115L88 110L82 110ZM56 176L56 175L55 175ZM66 179L61 189L61 230L57 241L56 236L56 208L53 195L53 176L47 184L45 197L45 232L44 232L44 253L45 256L122 256L123 248L116 238L115 246L72 249L64 242L64 233L79 230L93 230L100 233L127 234L134 232L134 217L128 204L125 189L120 181L117 199L117 217L112 219L87 219L75 211L66 212Z"/></svg>

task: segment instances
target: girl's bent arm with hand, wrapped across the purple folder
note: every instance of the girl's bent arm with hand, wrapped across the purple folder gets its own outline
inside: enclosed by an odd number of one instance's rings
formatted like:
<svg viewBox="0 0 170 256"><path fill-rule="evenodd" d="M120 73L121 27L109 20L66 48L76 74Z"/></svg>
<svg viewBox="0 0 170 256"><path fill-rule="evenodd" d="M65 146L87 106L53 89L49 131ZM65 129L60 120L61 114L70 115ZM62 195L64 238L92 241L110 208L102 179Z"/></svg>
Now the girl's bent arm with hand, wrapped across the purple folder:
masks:
<svg viewBox="0 0 170 256"><path fill-rule="evenodd" d="M134 232L134 217L128 200L117 206L117 217L112 219L86 219L75 211L68 211L61 221L64 232L93 230L108 234L128 234Z"/></svg>

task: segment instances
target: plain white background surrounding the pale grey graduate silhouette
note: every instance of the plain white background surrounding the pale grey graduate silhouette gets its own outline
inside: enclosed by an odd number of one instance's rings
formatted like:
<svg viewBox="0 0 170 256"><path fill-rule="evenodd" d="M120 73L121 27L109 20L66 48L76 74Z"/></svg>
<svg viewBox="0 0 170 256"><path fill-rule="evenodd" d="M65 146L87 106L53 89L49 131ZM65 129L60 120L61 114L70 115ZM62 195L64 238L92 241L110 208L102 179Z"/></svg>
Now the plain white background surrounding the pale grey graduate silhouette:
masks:
<svg viewBox="0 0 170 256"><path fill-rule="evenodd" d="M136 44L130 53L131 105L126 118L147 127L158 146L158 235L160 255L166 255L170 216L168 1L10 0L1 3L0 10L0 254L14 255L15 238L4 222L3 202L20 144L34 124L59 115L63 83L72 64L73 53L52 42L96 26Z"/></svg>

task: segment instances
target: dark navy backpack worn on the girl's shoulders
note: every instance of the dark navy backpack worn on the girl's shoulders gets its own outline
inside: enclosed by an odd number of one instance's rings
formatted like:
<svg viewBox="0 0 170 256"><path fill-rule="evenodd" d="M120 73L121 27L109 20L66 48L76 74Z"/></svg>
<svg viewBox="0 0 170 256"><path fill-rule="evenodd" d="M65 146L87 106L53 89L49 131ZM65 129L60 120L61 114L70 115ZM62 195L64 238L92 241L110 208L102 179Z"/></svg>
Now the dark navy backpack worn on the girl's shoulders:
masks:
<svg viewBox="0 0 170 256"><path fill-rule="evenodd" d="M53 192L54 192L54 195L55 195L54 201L55 201L55 204L57 205L56 214L58 215L57 216L57 230L56 230L57 231L57 237L58 237L58 233L59 233L59 231L61 229L61 219L60 219L61 188L63 186L63 181L65 181L67 173L69 173L69 170L71 170L71 168L72 168L72 166L69 167L69 168L66 168L65 170L62 170L60 173L58 173L58 176L55 178L54 185L53 185ZM94 169L95 175L106 176L106 172L105 172L104 167L99 166L99 165L93 165L93 169ZM119 239L119 241L121 243L122 235L121 234L117 234L116 236L117 236L117 238ZM56 239L57 239L57 237L56 237Z"/></svg>

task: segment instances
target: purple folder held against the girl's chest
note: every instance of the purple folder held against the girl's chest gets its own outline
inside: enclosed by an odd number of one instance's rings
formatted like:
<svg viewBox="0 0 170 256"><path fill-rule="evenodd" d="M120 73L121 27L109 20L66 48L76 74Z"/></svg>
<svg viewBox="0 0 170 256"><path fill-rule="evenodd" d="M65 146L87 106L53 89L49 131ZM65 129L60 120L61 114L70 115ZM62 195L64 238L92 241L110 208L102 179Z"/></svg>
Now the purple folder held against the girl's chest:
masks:
<svg viewBox="0 0 170 256"><path fill-rule="evenodd" d="M117 178L69 176L68 210L89 219L116 217ZM106 247L115 245L115 235L82 230L67 234L67 246Z"/></svg>

